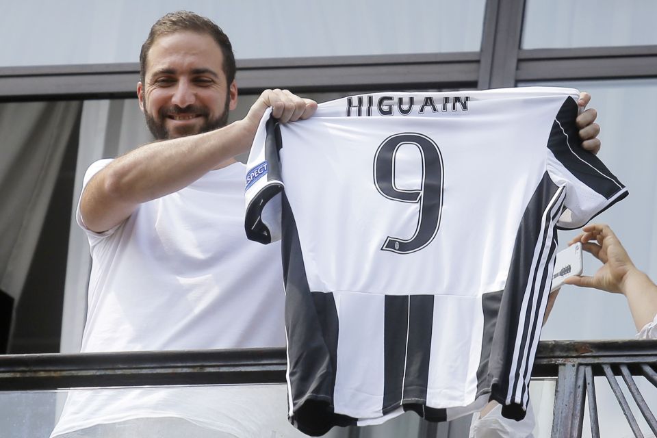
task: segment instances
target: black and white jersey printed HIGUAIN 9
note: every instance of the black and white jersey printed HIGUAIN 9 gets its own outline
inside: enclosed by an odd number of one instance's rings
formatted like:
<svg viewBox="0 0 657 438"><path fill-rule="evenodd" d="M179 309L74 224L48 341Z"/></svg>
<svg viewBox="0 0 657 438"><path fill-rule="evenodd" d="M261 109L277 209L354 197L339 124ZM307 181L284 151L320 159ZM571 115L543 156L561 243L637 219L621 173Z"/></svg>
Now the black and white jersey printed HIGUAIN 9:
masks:
<svg viewBox="0 0 657 438"><path fill-rule="evenodd" d="M309 435L489 400L524 417L556 229L627 195L577 90L362 94L266 114L246 233L282 239L290 421Z"/></svg>

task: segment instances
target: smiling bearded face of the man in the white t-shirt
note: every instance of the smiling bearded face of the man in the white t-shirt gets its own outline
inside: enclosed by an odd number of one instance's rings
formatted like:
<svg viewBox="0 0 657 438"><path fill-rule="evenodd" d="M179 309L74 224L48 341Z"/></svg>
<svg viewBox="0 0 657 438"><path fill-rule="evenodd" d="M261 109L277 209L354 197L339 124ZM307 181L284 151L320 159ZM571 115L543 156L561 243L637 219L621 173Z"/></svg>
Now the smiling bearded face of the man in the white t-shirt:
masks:
<svg viewBox="0 0 657 438"><path fill-rule="evenodd" d="M218 56L216 40L227 42L225 35L213 38L182 31L155 41L149 38L144 44L137 94L155 138L189 136L227 125L228 112L237 104L235 60L232 53L222 51Z"/></svg>

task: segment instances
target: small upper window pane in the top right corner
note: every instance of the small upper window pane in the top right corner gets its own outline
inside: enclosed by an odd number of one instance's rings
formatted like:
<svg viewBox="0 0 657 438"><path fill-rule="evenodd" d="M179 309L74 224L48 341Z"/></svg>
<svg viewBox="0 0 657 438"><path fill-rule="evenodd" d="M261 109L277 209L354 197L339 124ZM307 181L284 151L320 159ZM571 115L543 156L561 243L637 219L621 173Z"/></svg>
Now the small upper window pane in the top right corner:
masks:
<svg viewBox="0 0 657 438"><path fill-rule="evenodd" d="M527 0L522 49L657 44L657 2Z"/></svg>

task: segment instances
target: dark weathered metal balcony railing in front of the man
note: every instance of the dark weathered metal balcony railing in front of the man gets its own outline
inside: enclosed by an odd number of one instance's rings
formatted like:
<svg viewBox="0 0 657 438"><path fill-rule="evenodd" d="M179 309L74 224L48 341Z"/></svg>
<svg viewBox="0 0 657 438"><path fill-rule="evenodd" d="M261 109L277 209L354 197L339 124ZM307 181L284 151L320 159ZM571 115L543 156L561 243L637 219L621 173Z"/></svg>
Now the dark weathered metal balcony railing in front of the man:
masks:
<svg viewBox="0 0 657 438"><path fill-rule="evenodd" d="M541 342L532 376L556 378L554 438L582 436L587 398L591 436L601 436L595 376L606 376L632 433L643 437L616 378L621 376L657 435L655 415L634 381L643 376L657 387L657 340ZM0 356L0 391L284 382L282 348Z"/></svg>

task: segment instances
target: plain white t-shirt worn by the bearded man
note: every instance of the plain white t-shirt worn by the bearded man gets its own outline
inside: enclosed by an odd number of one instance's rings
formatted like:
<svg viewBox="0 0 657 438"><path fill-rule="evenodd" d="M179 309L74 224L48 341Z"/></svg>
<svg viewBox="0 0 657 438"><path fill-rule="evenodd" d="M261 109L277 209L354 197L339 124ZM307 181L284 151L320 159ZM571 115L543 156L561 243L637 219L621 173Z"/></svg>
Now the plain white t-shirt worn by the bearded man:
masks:
<svg viewBox="0 0 657 438"><path fill-rule="evenodd" d="M110 162L92 164L84 185ZM105 233L86 229L78 207L93 258L82 352L285 345L280 247L246 239L245 175L241 163L208 172ZM274 429L261 428L287 423L281 388L70 391L53 435L179 417L237 437L270 437ZM297 433L289 424L276 430Z"/></svg>

